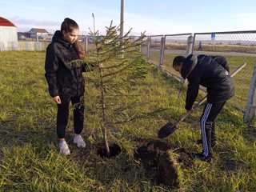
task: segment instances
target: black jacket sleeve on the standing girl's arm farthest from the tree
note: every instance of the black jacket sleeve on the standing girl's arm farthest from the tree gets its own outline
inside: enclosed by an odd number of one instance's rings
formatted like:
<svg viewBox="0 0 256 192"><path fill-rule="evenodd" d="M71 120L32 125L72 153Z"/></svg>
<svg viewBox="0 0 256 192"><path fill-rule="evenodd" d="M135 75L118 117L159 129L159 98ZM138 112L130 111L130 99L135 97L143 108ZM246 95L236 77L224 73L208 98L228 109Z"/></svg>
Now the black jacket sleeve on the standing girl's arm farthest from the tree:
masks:
<svg viewBox="0 0 256 192"><path fill-rule="evenodd" d="M48 46L46 50L46 81L48 83L48 90L51 97L58 96L57 71L58 71L58 57L54 53L53 47Z"/></svg>

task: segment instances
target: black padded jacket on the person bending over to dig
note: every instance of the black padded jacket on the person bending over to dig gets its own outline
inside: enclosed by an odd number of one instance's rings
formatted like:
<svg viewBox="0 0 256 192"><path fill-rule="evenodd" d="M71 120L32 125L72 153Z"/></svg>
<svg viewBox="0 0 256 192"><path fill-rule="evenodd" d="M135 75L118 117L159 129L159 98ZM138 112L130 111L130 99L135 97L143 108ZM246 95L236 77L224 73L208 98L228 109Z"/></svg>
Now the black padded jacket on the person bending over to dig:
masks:
<svg viewBox="0 0 256 192"><path fill-rule="evenodd" d="M182 65L182 78L189 85L186 92L186 110L191 110L198 96L199 86L207 89L207 102L226 102L234 96L234 83L226 58L222 56L194 56L190 54Z"/></svg>

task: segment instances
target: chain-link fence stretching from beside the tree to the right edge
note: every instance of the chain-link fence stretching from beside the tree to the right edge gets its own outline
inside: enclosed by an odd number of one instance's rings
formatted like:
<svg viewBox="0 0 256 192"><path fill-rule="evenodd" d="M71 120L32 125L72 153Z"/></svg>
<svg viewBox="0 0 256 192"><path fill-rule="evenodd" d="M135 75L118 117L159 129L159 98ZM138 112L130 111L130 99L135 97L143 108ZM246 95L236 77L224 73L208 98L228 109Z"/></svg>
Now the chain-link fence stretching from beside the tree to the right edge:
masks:
<svg viewBox="0 0 256 192"><path fill-rule="evenodd" d="M169 34L149 36L146 40L146 57L162 70L180 80L173 70L175 56L188 54L222 55L226 57L230 71L246 63L235 77L235 96L230 103L245 111L248 101L250 79L256 64L256 31L211 32L192 34ZM144 53L144 51L143 51Z"/></svg>

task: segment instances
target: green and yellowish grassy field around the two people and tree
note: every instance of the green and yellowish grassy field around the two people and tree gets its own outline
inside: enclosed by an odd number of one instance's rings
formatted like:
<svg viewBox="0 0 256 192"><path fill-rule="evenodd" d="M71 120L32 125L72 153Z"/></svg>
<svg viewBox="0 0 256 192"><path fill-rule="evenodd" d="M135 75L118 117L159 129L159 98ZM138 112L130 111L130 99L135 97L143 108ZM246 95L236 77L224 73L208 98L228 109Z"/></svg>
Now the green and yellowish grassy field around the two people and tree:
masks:
<svg viewBox="0 0 256 192"><path fill-rule="evenodd" d="M218 118L214 162L194 160L193 168L180 170L180 188L170 190L158 186L154 174L134 161L134 149L139 139L156 138L160 126L184 112L185 93L181 98L177 95L181 85L151 66L145 83L138 87L141 96L137 99L147 105L135 110L168 110L120 126L114 142L122 146L122 153L102 159L96 153L102 142L95 136L98 116L91 112L97 104L95 90L87 83L83 131L87 146L78 150L71 144L70 117L66 140L71 155L63 157L58 154L55 134L56 106L44 78L45 53L0 52L0 58L0 191L256 191L256 127L244 125L242 114L232 106L226 106ZM166 142L190 152L201 151L194 143L200 137L200 114L182 122Z"/></svg>

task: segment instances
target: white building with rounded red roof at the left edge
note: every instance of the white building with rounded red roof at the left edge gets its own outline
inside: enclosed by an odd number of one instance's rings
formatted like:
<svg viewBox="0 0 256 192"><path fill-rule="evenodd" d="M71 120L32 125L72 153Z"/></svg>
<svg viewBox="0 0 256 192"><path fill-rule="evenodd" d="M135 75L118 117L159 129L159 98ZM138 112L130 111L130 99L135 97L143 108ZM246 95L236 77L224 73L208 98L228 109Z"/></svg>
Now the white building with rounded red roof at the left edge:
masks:
<svg viewBox="0 0 256 192"><path fill-rule="evenodd" d="M0 17L0 50L18 45L17 27L6 18Z"/></svg>

